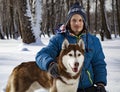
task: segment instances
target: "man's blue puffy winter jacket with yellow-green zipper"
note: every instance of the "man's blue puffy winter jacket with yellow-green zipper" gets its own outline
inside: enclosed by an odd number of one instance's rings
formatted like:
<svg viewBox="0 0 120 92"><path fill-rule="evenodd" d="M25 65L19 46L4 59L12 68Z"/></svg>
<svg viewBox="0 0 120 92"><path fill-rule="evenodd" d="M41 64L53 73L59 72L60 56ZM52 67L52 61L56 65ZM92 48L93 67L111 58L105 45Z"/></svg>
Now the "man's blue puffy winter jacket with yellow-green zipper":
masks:
<svg viewBox="0 0 120 92"><path fill-rule="evenodd" d="M106 63L104 61L105 56L102 51L100 41L97 37L88 35L88 52L85 52L84 67L82 69L81 78L79 81L78 88L88 88L96 83L102 82L106 85L107 83L107 71ZM36 55L36 63L42 70L48 70L48 65L51 62L55 62L55 58L59 56L61 51L62 42L67 38L69 43L77 43L77 38L71 36L69 32L58 33L53 36L48 46L41 49ZM86 34L81 35L86 45Z"/></svg>

